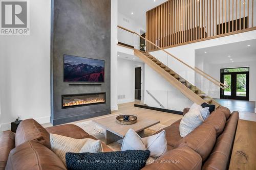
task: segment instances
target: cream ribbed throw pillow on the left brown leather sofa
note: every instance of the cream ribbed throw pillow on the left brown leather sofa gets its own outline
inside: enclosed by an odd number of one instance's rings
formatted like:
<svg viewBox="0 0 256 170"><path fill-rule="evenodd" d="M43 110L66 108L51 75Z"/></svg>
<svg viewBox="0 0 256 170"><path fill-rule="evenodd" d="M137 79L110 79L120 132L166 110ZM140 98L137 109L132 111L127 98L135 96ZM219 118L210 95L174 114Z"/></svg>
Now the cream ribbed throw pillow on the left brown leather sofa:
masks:
<svg viewBox="0 0 256 170"><path fill-rule="evenodd" d="M99 153L102 145L99 140L90 138L74 139L67 136L50 134L51 150L66 164L66 153Z"/></svg>

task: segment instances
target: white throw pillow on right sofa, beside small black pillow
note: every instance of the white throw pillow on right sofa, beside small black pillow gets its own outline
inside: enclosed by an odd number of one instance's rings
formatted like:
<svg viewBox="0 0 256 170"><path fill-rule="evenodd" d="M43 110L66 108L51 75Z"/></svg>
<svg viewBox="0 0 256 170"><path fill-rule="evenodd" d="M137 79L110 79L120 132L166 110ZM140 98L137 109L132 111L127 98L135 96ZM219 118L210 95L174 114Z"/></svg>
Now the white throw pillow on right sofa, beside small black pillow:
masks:
<svg viewBox="0 0 256 170"><path fill-rule="evenodd" d="M180 136L185 137L204 122L198 108L189 109L180 122Z"/></svg>

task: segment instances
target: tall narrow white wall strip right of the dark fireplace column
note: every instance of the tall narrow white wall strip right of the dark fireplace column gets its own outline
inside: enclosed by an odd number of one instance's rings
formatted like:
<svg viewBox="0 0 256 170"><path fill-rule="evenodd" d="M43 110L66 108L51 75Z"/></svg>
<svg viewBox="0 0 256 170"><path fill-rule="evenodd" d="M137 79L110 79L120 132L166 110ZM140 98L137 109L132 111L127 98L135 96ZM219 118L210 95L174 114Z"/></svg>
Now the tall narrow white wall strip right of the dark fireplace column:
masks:
<svg viewBox="0 0 256 170"><path fill-rule="evenodd" d="M117 0L111 0L111 110L117 110Z"/></svg>

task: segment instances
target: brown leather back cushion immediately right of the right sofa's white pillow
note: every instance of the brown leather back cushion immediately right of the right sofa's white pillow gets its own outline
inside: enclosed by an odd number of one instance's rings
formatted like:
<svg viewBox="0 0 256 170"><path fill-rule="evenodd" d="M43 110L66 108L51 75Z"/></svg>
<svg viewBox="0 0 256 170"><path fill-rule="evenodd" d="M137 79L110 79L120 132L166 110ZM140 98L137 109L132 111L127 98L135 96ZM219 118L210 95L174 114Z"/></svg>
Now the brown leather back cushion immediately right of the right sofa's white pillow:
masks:
<svg viewBox="0 0 256 170"><path fill-rule="evenodd" d="M214 126L216 129L217 136L219 136L226 124L226 117L224 113L219 111L214 111L210 114L208 118L204 121L204 124Z"/></svg>

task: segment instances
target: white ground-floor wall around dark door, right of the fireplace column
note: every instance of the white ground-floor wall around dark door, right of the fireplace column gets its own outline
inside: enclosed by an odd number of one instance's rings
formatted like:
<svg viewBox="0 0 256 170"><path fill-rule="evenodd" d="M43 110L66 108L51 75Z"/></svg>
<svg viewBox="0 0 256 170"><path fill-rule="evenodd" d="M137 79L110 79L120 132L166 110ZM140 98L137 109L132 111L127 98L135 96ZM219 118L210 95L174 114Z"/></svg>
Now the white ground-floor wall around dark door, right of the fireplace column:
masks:
<svg viewBox="0 0 256 170"><path fill-rule="evenodd" d="M118 58L118 95L125 95L124 99L118 99L118 104L135 101L135 67L141 67L143 101L144 63Z"/></svg>

